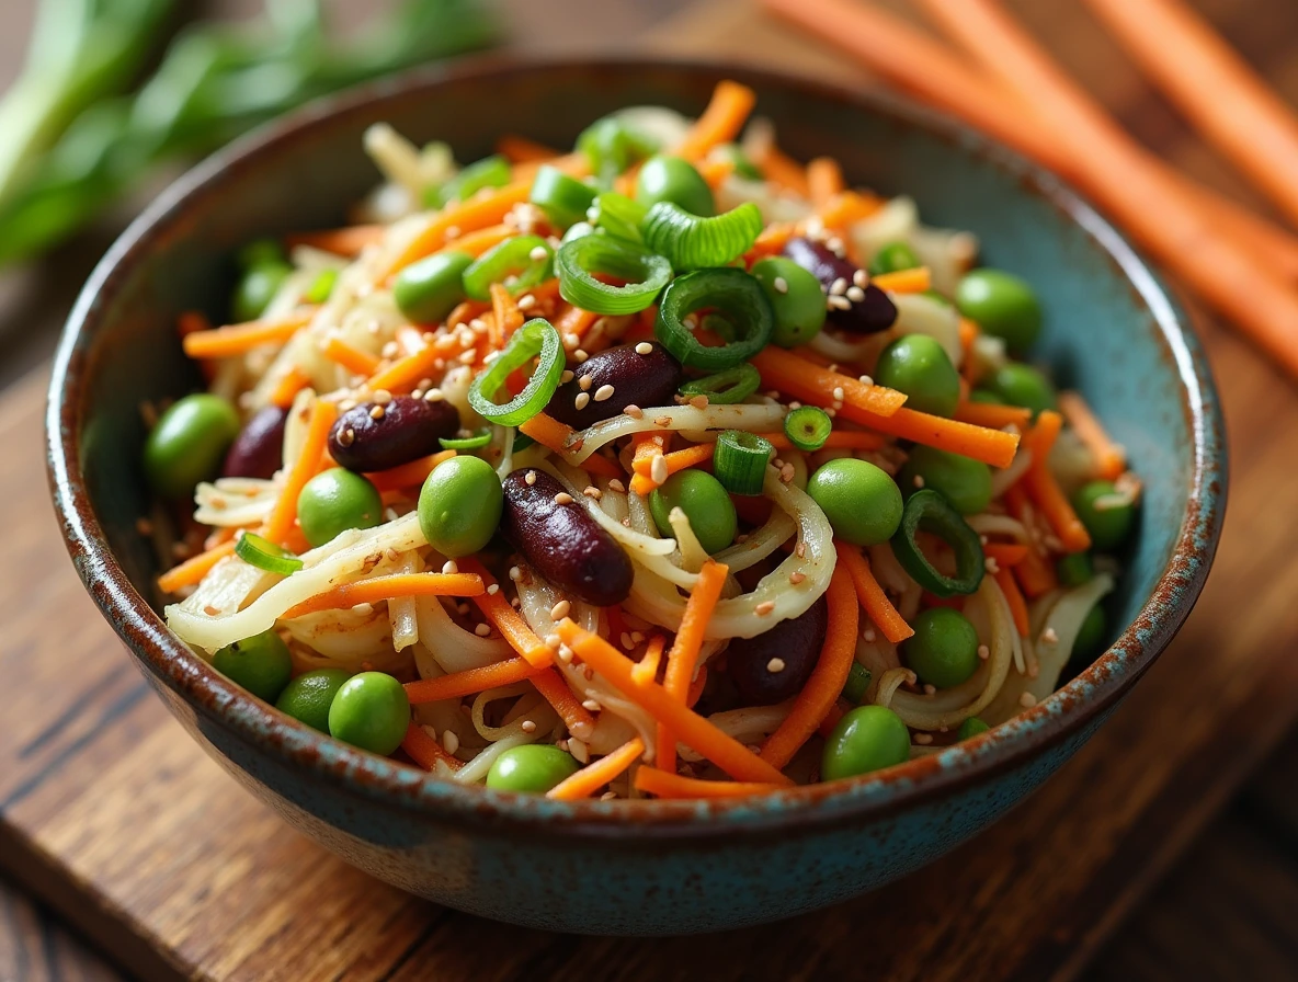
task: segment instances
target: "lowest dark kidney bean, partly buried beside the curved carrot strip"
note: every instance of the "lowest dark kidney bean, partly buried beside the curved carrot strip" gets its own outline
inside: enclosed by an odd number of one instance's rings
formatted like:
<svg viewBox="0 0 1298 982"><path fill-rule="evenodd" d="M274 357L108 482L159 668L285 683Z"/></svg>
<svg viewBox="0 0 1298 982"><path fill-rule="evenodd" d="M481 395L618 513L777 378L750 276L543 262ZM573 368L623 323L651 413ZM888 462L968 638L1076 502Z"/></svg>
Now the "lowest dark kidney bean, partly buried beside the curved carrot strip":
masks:
<svg viewBox="0 0 1298 982"><path fill-rule="evenodd" d="M781 620L755 638L735 638L726 649L726 671L739 694L753 706L792 699L811 677L829 628L824 597L790 620ZM779 659L771 671L772 659Z"/></svg>

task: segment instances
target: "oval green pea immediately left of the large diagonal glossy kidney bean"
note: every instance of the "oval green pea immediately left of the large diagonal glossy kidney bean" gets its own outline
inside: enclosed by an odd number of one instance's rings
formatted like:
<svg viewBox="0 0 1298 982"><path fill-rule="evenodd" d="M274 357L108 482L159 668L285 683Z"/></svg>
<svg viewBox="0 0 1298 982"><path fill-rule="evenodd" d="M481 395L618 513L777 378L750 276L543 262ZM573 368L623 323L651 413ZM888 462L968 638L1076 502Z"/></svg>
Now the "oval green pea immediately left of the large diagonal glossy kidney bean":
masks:
<svg viewBox="0 0 1298 982"><path fill-rule="evenodd" d="M496 468L480 457L461 454L439 463L423 483L419 528L443 555L470 555L491 541L504 509Z"/></svg>

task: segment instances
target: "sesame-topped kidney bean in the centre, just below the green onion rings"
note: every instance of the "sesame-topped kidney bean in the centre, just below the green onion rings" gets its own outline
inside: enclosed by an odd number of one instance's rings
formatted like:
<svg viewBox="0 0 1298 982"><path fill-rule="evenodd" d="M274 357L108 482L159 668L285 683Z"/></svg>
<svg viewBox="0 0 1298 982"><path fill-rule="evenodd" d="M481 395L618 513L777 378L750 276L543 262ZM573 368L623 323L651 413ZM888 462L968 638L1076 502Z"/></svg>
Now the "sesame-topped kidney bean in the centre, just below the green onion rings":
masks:
<svg viewBox="0 0 1298 982"><path fill-rule="evenodd" d="M640 345L646 345L641 349ZM644 350L644 354L641 354ZM589 379L583 385L583 379ZM627 406L670 406L684 379L680 362L657 341L626 344L592 354L572 370L572 380L556 389L545 411L574 429L585 429L602 419L613 419ZM607 398L596 398L605 385ZM578 409L579 397L582 409Z"/></svg>

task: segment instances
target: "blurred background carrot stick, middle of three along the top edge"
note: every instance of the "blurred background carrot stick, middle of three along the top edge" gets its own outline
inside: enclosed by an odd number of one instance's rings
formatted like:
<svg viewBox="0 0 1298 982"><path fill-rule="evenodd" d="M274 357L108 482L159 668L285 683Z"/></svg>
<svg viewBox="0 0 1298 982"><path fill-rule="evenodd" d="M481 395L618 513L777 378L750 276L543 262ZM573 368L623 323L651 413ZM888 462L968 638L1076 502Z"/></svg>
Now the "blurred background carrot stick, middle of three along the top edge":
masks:
<svg viewBox="0 0 1298 982"><path fill-rule="evenodd" d="M994 0L922 0L998 74L1072 153L1092 195L1167 266L1290 375L1298 375L1298 293L1218 234L1144 158L1116 123L1051 62Z"/></svg>

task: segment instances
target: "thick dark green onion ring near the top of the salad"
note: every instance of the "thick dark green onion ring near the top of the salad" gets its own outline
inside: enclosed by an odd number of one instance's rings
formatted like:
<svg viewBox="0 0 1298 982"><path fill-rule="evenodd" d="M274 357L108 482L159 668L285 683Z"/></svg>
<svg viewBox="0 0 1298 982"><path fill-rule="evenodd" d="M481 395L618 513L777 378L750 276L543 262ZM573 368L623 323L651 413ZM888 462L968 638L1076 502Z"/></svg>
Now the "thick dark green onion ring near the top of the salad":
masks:
<svg viewBox="0 0 1298 982"><path fill-rule="evenodd" d="M718 348L706 348L694 337L693 331L685 326L685 318L705 307L729 322L735 340ZM775 311L771 310L771 301L762 284L744 270L731 269L698 270L674 279L658 304L658 320L654 324L654 335L678 362L687 368L713 372L746 362L766 348L774 331Z"/></svg>

